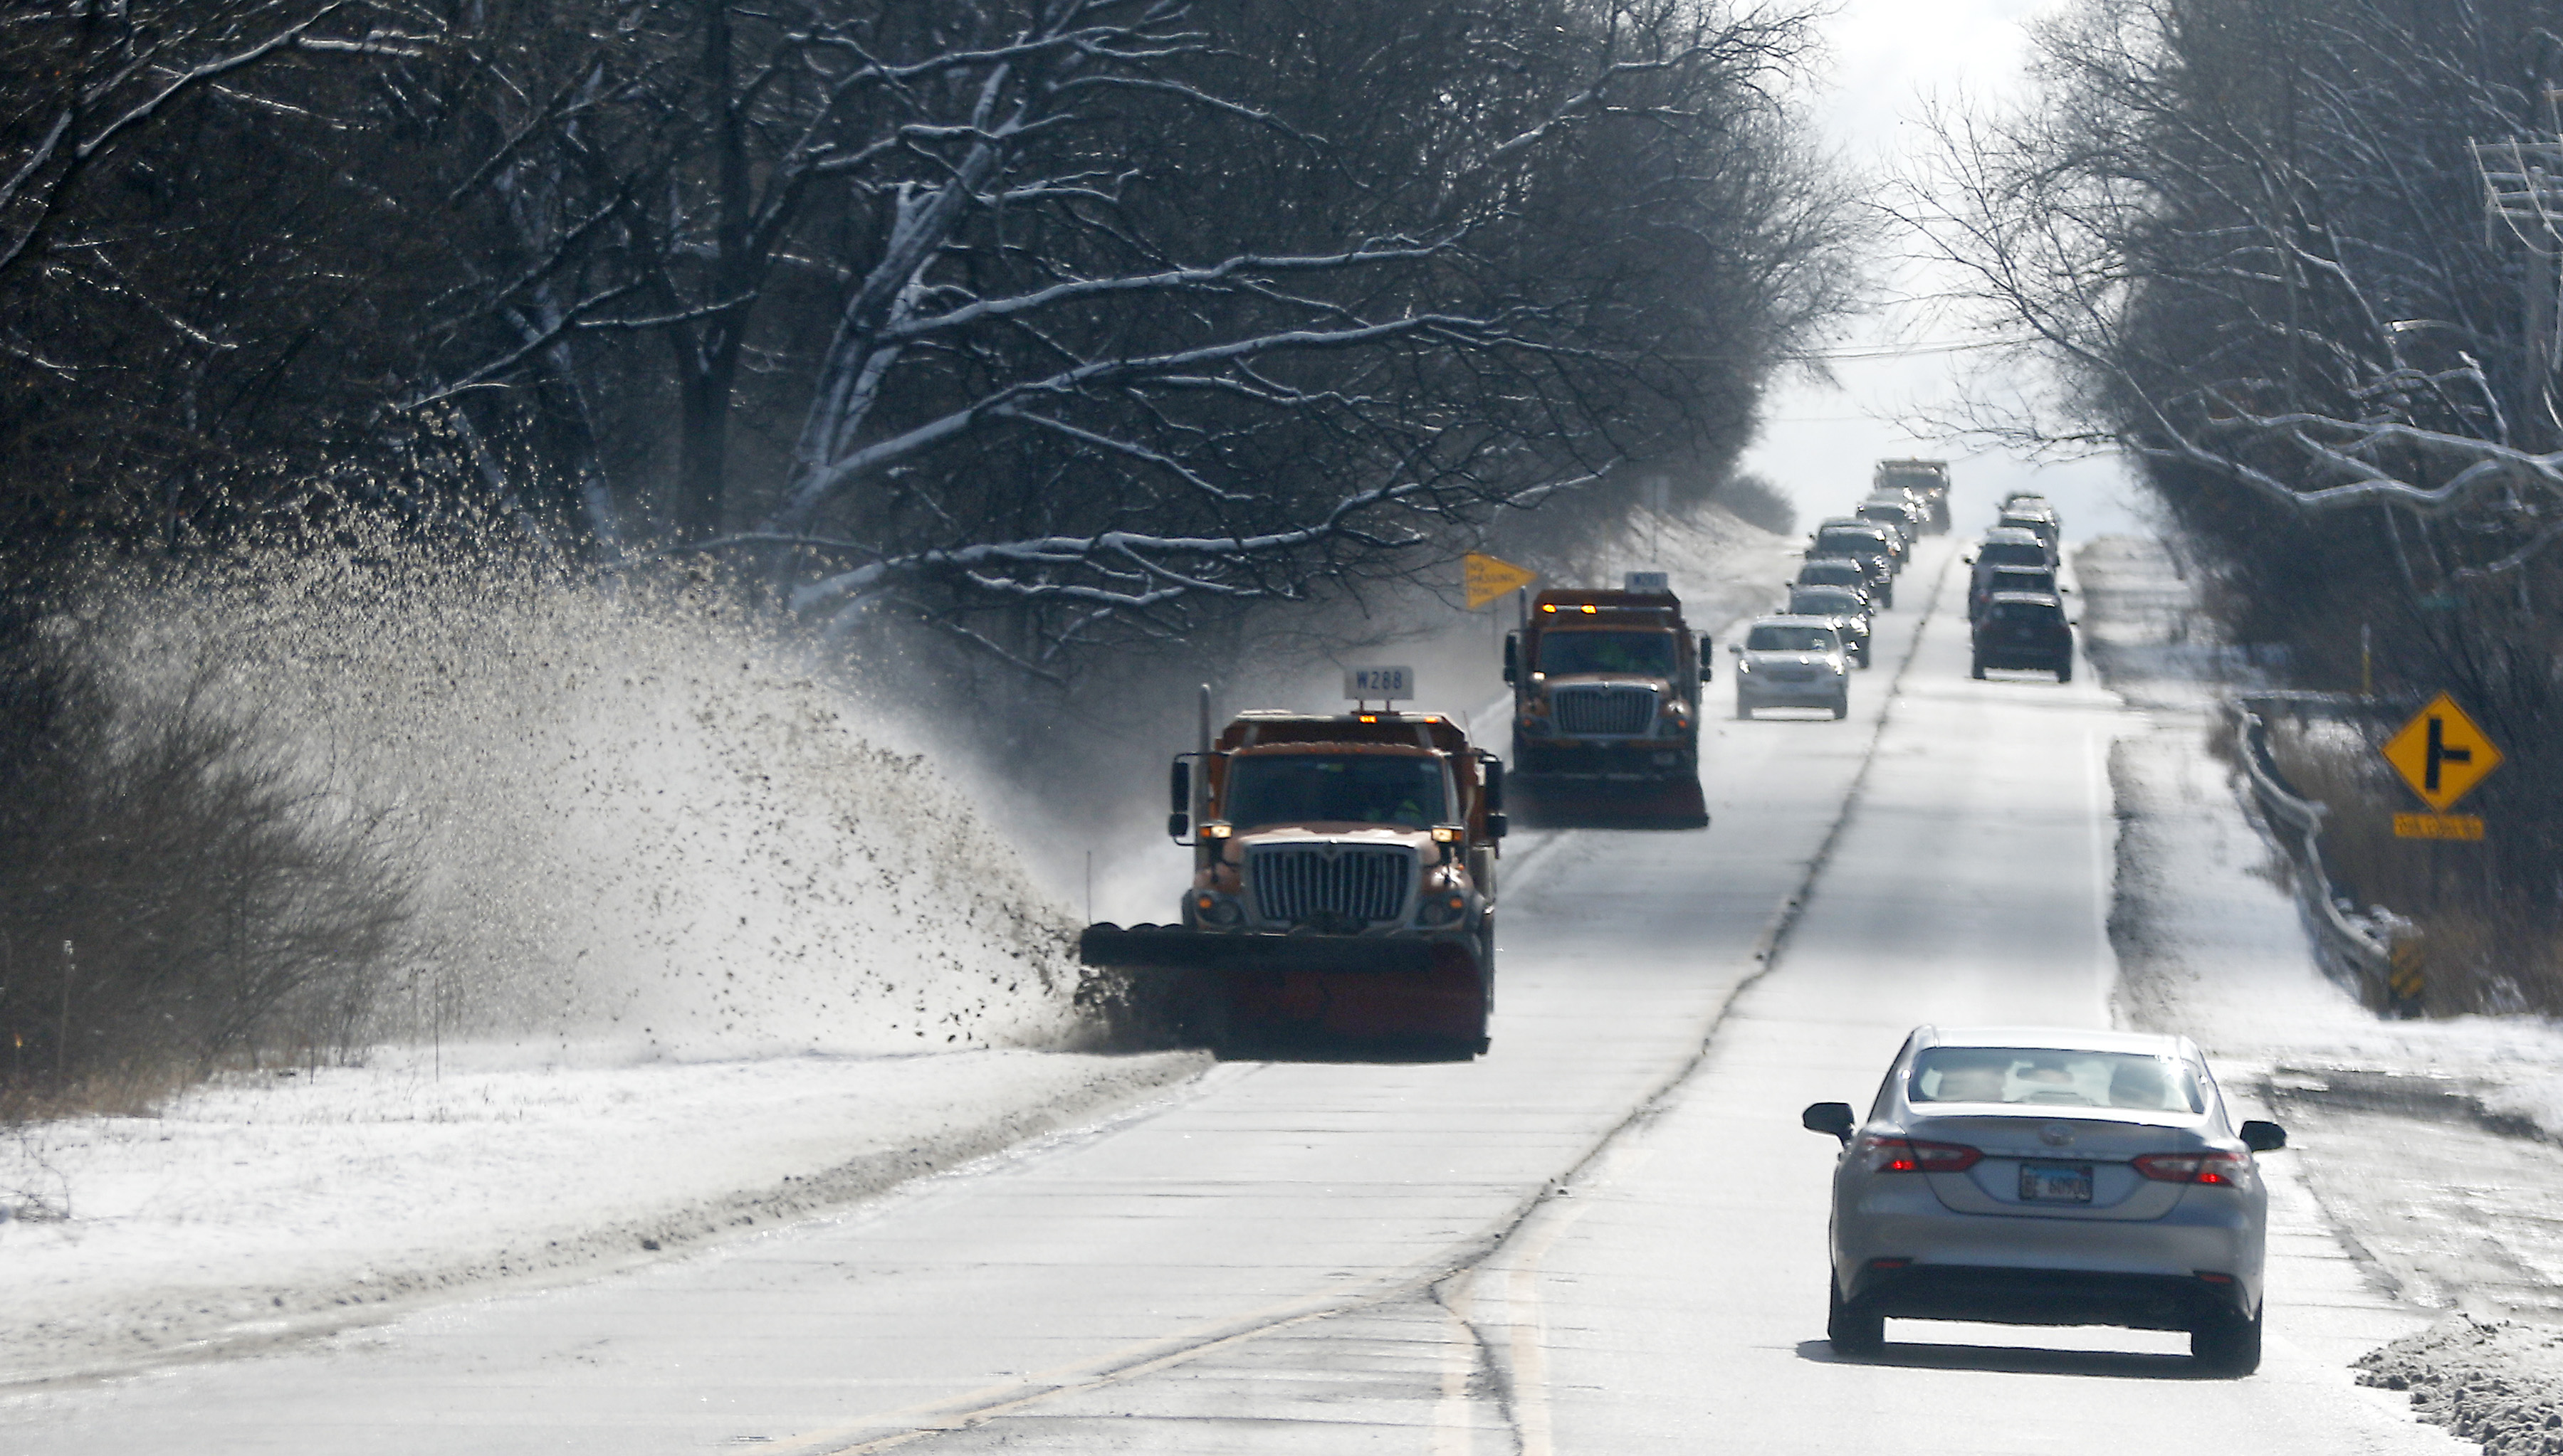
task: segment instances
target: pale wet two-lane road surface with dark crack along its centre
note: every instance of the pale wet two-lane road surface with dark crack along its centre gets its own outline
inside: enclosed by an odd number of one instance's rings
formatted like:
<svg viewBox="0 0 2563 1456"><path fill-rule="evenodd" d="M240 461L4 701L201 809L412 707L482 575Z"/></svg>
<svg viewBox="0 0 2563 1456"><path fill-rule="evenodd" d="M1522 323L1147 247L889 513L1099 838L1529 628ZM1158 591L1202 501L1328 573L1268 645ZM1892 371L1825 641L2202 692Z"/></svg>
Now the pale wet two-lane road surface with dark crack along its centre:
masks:
<svg viewBox="0 0 2563 1456"><path fill-rule="evenodd" d="M2412 1320L2284 1159L2258 1379L2189 1382L2179 1341L2112 1330L1820 1343L1830 1148L1797 1107L1866 1097L1915 1020L2107 1015L2112 705L1968 682L1961 620L1917 633L1945 559L1907 577L1848 723L1712 720L1715 831L1507 861L1476 1064L1230 1064L841 1220L21 1392L0 1448L2453 1451L2348 1382Z"/></svg>

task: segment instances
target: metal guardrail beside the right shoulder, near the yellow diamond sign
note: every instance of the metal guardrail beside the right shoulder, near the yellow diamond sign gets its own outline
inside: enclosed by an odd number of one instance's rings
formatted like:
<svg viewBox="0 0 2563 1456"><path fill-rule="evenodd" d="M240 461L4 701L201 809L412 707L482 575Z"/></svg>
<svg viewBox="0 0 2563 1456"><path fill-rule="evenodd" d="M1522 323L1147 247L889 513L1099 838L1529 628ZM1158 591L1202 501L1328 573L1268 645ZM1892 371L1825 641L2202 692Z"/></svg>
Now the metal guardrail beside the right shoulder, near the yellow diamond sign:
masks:
<svg viewBox="0 0 2563 1456"><path fill-rule="evenodd" d="M2373 1010L2419 1010L2419 943L2412 923L2384 907L2350 910L2335 892L2330 872L2322 866L2322 802L2309 800L2286 782L2268 756L2268 707L2358 705L2358 697L2337 692L2271 692L2227 697L2225 713L2235 725L2235 756L2243 777L2250 779L2253 800L2271 828L2271 838L2289 859L2289 879L2296 887L2296 907L2314 941L2314 961L2322 972L2348 987Z"/></svg>

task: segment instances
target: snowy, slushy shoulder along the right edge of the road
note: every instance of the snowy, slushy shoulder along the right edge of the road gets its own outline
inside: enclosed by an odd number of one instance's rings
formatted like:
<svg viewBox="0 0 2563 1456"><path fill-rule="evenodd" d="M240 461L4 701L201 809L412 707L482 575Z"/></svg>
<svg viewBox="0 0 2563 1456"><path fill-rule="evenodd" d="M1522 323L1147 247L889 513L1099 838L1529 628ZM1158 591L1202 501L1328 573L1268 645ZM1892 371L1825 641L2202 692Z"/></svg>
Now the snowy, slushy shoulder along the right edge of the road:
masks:
<svg viewBox="0 0 2563 1456"><path fill-rule="evenodd" d="M2563 1025L2381 1020L2317 969L2286 869L2207 751L2237 654L2194 641L2153 541L2079 551L2084 633L2138 710L2112 754L2117 1015L2181 1030L2261 1095L2371 1279L2450 1320L2368 1384L2491 1451L2563 1451Z"/></svg>

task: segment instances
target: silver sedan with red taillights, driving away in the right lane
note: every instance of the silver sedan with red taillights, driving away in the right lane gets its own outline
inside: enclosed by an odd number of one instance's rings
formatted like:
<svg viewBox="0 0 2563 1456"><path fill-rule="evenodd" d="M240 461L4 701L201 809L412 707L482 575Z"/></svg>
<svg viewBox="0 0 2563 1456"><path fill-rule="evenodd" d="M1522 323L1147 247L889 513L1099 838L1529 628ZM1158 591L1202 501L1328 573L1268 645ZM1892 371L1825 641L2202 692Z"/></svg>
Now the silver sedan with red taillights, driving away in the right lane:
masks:
<svg viewBox="0 0 2563 1456"><path fill-rule="evenodd" d="M1817 1102L1833 1174L1827 1336L1886 1320L2189 1330L2222 1374L2261 1366L2276 1123L2230 1123L2181 1036L1917 1028L1866 1120Z"/></svg>

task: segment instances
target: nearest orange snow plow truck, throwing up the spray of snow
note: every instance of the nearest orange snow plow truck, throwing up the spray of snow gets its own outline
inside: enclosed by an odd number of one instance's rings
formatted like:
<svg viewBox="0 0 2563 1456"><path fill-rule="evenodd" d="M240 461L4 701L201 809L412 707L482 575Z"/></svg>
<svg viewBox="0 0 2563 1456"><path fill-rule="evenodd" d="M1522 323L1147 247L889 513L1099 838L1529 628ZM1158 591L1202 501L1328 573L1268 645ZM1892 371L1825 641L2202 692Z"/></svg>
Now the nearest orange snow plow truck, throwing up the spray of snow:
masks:
<svg viewBox="0 0 2563 1456"><path fill-rule="evenodd" d="M1356 679L1371 692L1356 692ZM1346 695L1407 697L1407 669ZM1387 692L1381 692L1387 687ZM1079 959L1158 977L1215 1051L1264 1038L1487 1051L1504 766L1438 713L1240 713L1174 761L1179 925L1087 925Z"/></svg>

